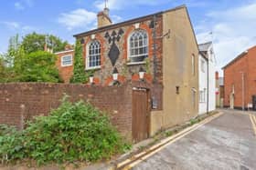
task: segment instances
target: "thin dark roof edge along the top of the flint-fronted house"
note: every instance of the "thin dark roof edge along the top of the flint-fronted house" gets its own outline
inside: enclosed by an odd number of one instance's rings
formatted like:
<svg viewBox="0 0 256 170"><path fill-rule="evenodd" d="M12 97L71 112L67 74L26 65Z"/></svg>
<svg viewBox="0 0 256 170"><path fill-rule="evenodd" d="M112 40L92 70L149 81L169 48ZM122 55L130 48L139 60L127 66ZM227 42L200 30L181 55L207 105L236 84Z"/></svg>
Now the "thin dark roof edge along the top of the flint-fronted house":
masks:
<svg viewBox="0 0 256 170"><path fill-rule="evenodd" d="M186 5L179 5L179 6L176 6L175 8L172 8L172 9L169 9L169 10L165 10L165 11L162 11L162 12L158 12L158 13L155 13L155 14L152 14L152 15L144 15L144 16L137 17L137 18L134 18L134 19L131 19L131 20L127 20L127 21L124 21L124 22L121 22L121 23L117 23L117 24L113 24L113 25L107 25L107 26L102 26L100 28L96 28L96 29L93 29L91 31L83 32L83 33L80 33L80 34L77 34L77 35L73 35L73 36L74 37L79 37L79 36L91 35L91 34L95 34L95 33L101 32L101 31L105 31L105 30L109 30L109 29L114 29L114 28L119 27L121 25L131 25L131 24L134 24L134 23L138 23L138 22L140 22L142 20L150 19L150 18L154 17L155 15L156 16L157 15L162 15L165 12L175 11L175 10L181 9L181 8L186 8L187 9L187 6ZM190 18L189 18L189 20L190 20Z"/></svg>

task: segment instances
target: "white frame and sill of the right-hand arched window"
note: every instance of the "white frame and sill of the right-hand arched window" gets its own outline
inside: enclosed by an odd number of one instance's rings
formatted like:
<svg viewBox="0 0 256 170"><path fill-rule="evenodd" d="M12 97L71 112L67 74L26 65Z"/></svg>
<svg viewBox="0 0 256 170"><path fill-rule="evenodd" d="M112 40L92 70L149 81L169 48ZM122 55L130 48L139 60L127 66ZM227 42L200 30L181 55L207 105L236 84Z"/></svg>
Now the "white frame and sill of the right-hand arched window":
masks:
<svg viewBox="0 0 256 170"><path fill-rule="evenodd" d="M130 44L130 40L131 40L131 37L134 35L134 34L136 34L136 32L144 32L145 33L145 35L147 36L147 40L146 40L146 45L144 45L144 39L143 39L143 45L142 46L139 46L138 45L138 49L139 48L142 48L142 47L147 47L147 53L145 53L145 54L141 54L141 55L131 55L131 44ZM129 62L129 64L128 65L133 65L133 64L144 64L145 62L144 61L139 61L139 62L131 62L131 58L135 58L135 57L140 57L140 56L143 56L143 55L147 55L147 57L149 56L148 54L149 54L149 36L148 36L148 33L147 33L147 31L146 30L144 30L144 29L136 29L136 30L134 30L129 36L128 36L128 39L127 39L127 49L128 49L128 53L127 53L127 55L128 55L128 60L130 61ZM134 48L135 49L135 48ZM145 58L147 58L147 57L145 57Z"/></svg>

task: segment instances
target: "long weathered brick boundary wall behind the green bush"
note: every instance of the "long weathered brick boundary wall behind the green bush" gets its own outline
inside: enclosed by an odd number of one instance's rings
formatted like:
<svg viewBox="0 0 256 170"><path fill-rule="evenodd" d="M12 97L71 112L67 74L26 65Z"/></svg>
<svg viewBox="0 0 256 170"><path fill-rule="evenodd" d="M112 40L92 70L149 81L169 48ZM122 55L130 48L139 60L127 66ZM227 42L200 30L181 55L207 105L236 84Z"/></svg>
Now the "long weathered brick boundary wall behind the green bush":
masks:
<svg viewBox="0 0 256 170"><path fill-rule="evenodd" d="M63 94L70 101L90 102L110 114L112 125L132 139L132 85L89 86L69 84L19 83L0 84L0 124L24 127L36 115L48 115L57 108Z"/></svg>

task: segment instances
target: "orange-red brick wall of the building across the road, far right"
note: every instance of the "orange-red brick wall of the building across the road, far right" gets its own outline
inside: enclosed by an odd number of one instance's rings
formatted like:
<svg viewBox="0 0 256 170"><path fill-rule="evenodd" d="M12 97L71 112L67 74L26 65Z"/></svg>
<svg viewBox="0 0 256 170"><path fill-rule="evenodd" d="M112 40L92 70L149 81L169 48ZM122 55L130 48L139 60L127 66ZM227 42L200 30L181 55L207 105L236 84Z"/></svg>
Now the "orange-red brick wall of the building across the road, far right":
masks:
<svg viewBox="0 0 256 170"><path fill-rule="evenodd" d="M244 73L245 107L251 104L252 95L256 95L256 46L248 54L240 57L224 69L224 105L229 106L232 85L235 86L235 107L242 107L242 74Z"/></svg>

